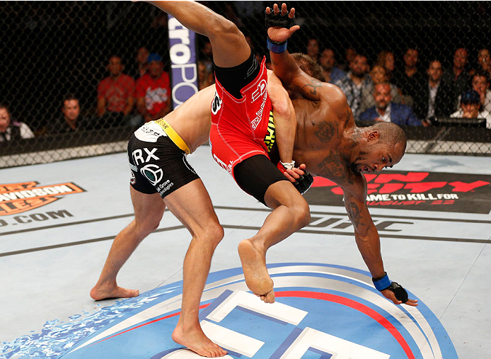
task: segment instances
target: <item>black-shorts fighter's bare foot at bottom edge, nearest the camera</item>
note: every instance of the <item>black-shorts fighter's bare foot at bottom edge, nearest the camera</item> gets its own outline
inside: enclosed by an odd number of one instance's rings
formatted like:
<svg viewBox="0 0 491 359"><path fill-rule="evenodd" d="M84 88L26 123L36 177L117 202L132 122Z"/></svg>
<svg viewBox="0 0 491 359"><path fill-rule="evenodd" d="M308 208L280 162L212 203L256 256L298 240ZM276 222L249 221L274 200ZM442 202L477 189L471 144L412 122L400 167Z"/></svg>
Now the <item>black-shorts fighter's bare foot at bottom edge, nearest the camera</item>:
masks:
<svg viewBox="0 0 491 359"><path fill-rule="evenodd" d="M199 324L197 328L193 327L192 329L184 331L183 325L180 324L179 321L172 333L172 340L175 341L175 343L194 351L198 355L207 358L219 358L227 353L204 335Z"/></svg>

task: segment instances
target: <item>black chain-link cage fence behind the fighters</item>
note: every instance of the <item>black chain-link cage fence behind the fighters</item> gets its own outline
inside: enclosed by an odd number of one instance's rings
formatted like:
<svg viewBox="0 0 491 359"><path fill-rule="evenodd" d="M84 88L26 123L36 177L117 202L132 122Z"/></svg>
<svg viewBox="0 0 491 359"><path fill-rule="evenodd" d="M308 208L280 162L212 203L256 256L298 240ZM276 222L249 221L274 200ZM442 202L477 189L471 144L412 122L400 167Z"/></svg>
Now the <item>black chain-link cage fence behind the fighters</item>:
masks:
<svg viewBox="0 0 491 359"><path fill-rule="evenodd" d="M267 56L264 9L272 3L201 2L236 23L255 53ZM401 108L405 113L399 120L407 152L491 154L491 2L287 4L301 25L289 51L317 57L328 81L347 94L358 125L381 117L377 98L386 86L376 85L388 82L391 118ZM169 71L166 14L129 1L0 1L0 9L0 167L125 151L146 119L132 92L137 85L126 85L134 103L120 93L124 103L113 108L98 103L98 88L114 57L132 79L147 71L138 57L148 52L161 55ZM207 38L197 38L197 54L209 64ZM212 81L209 69L200 72L203 84Z"/></svg>

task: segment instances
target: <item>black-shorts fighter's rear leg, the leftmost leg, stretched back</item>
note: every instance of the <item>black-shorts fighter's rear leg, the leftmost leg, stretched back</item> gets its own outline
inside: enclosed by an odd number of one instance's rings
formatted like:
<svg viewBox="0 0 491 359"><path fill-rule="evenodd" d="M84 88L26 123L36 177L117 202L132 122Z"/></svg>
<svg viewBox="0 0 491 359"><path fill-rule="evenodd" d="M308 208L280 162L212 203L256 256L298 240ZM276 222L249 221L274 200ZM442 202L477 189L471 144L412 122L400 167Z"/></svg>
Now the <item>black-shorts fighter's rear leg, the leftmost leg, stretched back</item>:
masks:
<svg viewBox="0 0 491 359"><path fill-rule="evenodd" d="M91 290L94 300L136 297L139 294L138 290L119 287L116 276L138 244L158 227L166 205L158 193L148 195L131 186L129 191L134 207L134 220L112 242L100 278Z"/></svg>

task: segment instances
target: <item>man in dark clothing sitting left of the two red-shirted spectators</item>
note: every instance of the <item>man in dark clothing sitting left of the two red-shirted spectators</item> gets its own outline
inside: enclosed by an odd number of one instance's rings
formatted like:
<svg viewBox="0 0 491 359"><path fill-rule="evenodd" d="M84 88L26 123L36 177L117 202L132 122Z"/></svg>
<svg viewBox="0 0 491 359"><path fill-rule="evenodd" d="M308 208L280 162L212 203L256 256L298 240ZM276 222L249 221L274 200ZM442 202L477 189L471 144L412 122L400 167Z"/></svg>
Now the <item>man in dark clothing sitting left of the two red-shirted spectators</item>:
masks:
<svg viewBox="0 0 491 359"><path fill-rule="evenodd" d="M62 116L55 119L48 126L47 132L68 133L79 130L91 130L93 123L91 119L80 115L79 99L71 93L64 96L62 101Z"/></svg>

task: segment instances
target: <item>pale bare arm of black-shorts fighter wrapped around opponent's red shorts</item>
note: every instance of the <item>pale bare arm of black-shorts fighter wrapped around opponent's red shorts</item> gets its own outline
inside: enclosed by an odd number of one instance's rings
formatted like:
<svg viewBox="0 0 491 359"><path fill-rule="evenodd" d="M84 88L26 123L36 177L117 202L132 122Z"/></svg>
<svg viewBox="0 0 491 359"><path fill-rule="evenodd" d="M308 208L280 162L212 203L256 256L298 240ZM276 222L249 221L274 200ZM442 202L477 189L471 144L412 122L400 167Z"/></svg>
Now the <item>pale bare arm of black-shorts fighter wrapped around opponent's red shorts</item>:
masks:
<svg viewBox="0 0 491 359"><path fill-rule="evenodd" d="M291 163L296 132L295 110L282 82L271 71L267 72L267 92L270 94L275 118L279 159L284 163Z"/></svg>

